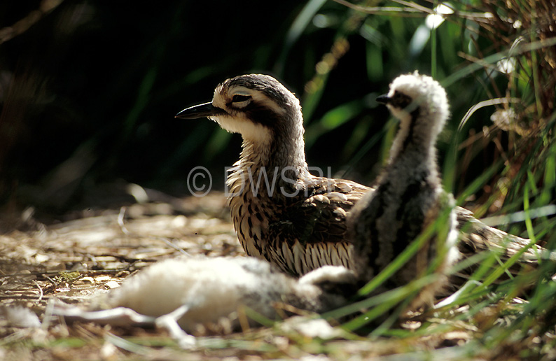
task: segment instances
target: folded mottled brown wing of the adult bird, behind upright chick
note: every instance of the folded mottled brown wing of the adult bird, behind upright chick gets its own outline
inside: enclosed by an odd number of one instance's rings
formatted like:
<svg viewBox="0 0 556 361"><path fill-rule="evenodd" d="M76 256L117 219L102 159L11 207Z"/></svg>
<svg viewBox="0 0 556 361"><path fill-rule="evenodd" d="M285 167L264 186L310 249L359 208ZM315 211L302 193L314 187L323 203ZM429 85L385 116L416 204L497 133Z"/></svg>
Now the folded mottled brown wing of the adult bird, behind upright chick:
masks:
<svg viewBox="0 0 556 361"><path fill-rule="evenodd" d="M346 215L371 189L349 180L317 177L305 185L303 195L277 210L279 221L269 225L270 262L294 276L325 264L352 268Z"/></svg>

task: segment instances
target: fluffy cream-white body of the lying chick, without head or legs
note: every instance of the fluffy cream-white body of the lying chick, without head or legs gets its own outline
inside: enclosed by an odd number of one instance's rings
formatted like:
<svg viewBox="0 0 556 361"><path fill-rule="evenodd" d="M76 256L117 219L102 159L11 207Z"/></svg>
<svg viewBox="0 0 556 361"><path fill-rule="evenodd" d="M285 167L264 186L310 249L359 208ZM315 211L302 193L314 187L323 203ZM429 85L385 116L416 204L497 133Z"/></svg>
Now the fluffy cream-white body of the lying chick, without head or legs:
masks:
<svg viewBox="0 0 556 361"><path fill-rule="evenodd" d="M178 321L183 330L218 323L246 305L267 317L273 305L295 287L317 292L314 285L297 285L293 278L270 271L254 258L188 258L158 262L110 292L107 305L124 306L146 316L162 316L186 304ZM253 297L256 295L256 297Z"/></svg>

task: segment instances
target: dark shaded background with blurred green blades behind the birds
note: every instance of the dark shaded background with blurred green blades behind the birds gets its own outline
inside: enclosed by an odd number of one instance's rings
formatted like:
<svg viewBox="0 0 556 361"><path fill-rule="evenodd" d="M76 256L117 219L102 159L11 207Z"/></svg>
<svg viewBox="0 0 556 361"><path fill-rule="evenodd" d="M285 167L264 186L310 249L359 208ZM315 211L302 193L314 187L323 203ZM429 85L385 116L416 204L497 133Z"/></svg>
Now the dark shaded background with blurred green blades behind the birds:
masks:
<svg viewBox="0 0 556 361"><path fill-rule="evenodd" d="M222 190L241 137L174 115L209 101L225 78L251 72L276 76L302 100L310 166L369 184L396 130L374 100L389 82L415 69L442 80L469 57L500 50L464 17L441 24L431 44L424 15L368 15L322 0L272 9L260 1L3 1L1 207L33 206L55 217L132 201L128 183L181 197L196 166L207 167ZM520 35L497 31L510 43ZM473 104L507 89L496 71L447 87L452 119L438 147L457 194L513 147L512 134L492 127L493 107L455 132ZM499 178L485 183L471 200L488 198Z"/></svg>

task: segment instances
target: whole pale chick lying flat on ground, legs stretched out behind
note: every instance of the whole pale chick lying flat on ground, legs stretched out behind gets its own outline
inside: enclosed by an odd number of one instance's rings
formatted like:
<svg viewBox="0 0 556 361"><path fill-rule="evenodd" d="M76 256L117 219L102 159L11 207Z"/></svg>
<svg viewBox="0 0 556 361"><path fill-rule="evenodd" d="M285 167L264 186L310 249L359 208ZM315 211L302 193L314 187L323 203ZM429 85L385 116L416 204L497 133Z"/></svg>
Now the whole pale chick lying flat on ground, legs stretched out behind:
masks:
<svg viewBox="0 0 556 361"><path fill-rule="evenodd" d="M195 338L184 332L226 333L253 325L245 314L249 309L271 320L291 315L292 307L322 313L347 304L356 290L356 277L345 267L321 267L293 278L254 257L187 258L158 262L125 279L95 300L93 308L103 311L59 308L55 314L112 325L158 325L190 346Z"/></svg>

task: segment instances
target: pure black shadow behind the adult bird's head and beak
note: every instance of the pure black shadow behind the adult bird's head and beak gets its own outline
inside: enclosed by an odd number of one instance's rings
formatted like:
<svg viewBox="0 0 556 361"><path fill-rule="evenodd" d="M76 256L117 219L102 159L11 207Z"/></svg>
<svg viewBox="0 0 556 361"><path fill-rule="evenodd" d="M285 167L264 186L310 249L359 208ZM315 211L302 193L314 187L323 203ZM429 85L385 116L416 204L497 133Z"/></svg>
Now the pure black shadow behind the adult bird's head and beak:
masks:
<svg viewBox="0 0 556 361"><path fill-rule="evenodd" d="M0 45L3 203L15 197L62 211L88 187L119 178L183 193L184 178L197 165L211 169L222 187L240 137L174 114L209 101L216 84L242 73L271 73L303 95L336 32L309 24L307 34L286 46L303 6L2 2L0 28L14 29ZM327 7L341 21L345 9ZM364 39L355 40L313 118L385 89L386 83L365 79ZM346 128L317 142L309 159L338 169L353 125Z"/></svg>

